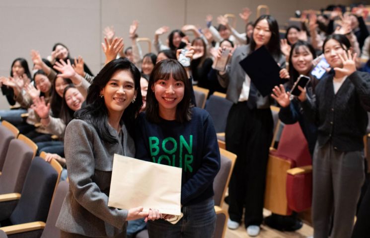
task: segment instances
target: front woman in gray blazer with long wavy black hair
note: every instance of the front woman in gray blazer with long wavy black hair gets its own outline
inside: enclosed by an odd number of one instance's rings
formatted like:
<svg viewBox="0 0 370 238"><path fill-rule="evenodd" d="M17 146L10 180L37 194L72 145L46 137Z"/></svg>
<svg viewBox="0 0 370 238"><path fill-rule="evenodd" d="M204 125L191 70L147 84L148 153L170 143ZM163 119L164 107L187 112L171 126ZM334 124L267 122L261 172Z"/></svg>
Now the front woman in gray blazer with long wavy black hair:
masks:
<svg viewBox="0 0 370 238"><path fill-rule="evenodd" d="M126 221L160 218L142 207L108 207L114 153L135 156L131 137L142 106L140 72L127 59L109 62L92 82L86 107L75 113L65 133L70 189L56 226L62 238L125 238Z"/></svg>

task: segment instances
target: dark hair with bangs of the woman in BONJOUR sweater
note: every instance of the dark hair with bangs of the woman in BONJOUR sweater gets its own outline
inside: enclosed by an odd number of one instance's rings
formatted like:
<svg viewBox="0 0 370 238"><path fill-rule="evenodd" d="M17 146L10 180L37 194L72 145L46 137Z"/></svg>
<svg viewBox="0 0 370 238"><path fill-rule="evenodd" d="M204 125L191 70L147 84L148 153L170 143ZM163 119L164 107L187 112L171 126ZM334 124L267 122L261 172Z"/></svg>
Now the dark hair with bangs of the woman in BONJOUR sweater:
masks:
<svg viewBox="0 0 370 238"><path fill-rule="evenodd" d="M184 97L176 107L176 120L182 123L191 119L190 88L192 86L188 80L186 71L177 60L164 59L154 66L148 83L146 114L148 120L153 123L160 122L161 118L159 117L158 101L155 99L152 88L156 81L160 79L168 80L171 76L173 79L183 82L185 86Z"/></svg>

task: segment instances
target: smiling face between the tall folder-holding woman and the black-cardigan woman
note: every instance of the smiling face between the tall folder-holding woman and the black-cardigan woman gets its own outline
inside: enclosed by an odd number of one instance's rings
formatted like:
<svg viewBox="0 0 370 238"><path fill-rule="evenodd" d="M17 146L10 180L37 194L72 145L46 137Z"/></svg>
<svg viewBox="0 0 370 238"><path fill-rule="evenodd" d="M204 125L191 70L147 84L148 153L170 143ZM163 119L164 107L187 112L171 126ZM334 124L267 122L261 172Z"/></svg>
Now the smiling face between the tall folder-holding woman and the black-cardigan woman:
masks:
<svg viewBox="0 0 370 238"><path fill-rule="evenodd" d="M292 64L299 74L308 75L312 68L313 55L306 46L299 46L292 52Z"/></svg>

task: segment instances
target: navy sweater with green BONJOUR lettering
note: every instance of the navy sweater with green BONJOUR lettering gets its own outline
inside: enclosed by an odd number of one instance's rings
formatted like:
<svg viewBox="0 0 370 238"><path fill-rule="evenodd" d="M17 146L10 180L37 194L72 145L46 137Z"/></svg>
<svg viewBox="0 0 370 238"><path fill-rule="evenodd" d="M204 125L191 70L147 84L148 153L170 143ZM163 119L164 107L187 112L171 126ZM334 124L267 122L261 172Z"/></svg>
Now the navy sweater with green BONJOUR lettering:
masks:
<svg viewBox="0 0 370 238"><path fill-rule="evenodd" d="M214 195L213 180L220 169L220 150L210 115L192 108L192 119L180 123L138 117L136 158L182 168L181 204L202 202ZM170 178L169 178L170 179Z"/></svg>

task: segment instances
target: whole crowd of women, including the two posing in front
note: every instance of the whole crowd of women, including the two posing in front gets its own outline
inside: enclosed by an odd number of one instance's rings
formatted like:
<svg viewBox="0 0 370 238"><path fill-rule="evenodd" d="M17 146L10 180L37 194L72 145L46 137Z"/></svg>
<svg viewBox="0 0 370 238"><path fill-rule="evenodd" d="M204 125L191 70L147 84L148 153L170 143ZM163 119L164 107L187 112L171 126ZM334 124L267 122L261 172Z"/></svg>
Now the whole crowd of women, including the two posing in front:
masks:
<svg viewBox="0 0 370 238"><path fill-rule="evenodd" d="M232 102L225 145L237 155L228 188L227 227L237 229L243 221L253 237L264 221L273 137L270 106L279 106L281 121L299 123L312 156L314 238L350 238L368 171L363 140L370 112L366 9L303 11L300 26L289 25L285 38L272 15L252 22L251 11L244 8L239 14L243 33L224 16L217 17L215 27L213 16L207 15L205 28L184 25L169 32L167 26L159 27L153 37L156 52L145 55L137 41L138 21L130 26L132 45L127 48L114 28L106 27L106 61L96 76L62 43L45 58L31 50L32 70L24 58L14 59L0 85L9 105L20 107L2 110L0 117L32 139L38 152L46 152L47 161L54 158L64 166L62 179L69 178L70 190L56 224L61 237L132 237L147 227L153 238L211 238L220 152L210 115L196 107L193 85L209 89L210 95L225 93ZM163 43L159 36L167 32ZM267 96L239 64L261 47L275 60L285 82ZM217 70L225 50L230 52L227 65ZM180 57L190 64L184 66ZM322 60L328 67L317 69ZM314 73L320 70L322 74ZM300 75L310 81L298 86L299 96L291 95ZM182 217L156 209L144 212L142 207L108 207L115 153L182 168ZM369 195L363 203L370 203ZM360 212L362 207L366 204ZM354 237L370 234L367 215L361 214ZM295 215L291 219L293 225L283 224L283 230L301 227ZM268 225L281 227L273 223Z"/></svg>

